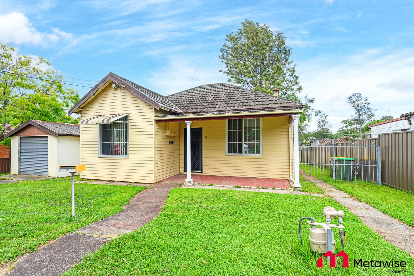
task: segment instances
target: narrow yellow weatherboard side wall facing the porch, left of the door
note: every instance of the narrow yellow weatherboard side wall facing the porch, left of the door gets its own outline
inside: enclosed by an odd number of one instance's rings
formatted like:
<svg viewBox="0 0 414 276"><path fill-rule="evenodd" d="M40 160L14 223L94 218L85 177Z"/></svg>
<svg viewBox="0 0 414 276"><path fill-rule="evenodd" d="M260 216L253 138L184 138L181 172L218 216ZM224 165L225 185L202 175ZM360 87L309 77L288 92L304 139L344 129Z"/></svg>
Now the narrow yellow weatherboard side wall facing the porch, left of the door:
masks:
<svg viewBox="0 0 414 276"><path fill-rule="evenodd" d="M164 115L158 110L154 109L155 115ZM178 123L171 123L177 124ZM178 136L165 135L165 123L156 123L154 120L155 130L155 182L163 180L170 176L180 173L180 143ZM174 144L169 144L174 142Z"/></svg>

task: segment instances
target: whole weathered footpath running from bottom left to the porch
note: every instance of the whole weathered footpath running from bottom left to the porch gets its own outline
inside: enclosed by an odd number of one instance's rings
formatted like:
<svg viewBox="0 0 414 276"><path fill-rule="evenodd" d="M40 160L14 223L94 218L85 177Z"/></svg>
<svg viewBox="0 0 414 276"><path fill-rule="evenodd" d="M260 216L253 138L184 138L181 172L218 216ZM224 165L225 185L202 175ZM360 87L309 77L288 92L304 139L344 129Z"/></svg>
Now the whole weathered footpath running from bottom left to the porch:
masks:
<svg viewBox="0 0 414 276"><path fill-rule="evenodd" d="M111 238L132 232L155 218L164 206L170 190L180 184L182 183L174 181L153 184L133 197L122 212L84 226L76 233L63 235L39 250L24 255L6 275L61 275L79 263L85 254L95 252Z"/></svg>

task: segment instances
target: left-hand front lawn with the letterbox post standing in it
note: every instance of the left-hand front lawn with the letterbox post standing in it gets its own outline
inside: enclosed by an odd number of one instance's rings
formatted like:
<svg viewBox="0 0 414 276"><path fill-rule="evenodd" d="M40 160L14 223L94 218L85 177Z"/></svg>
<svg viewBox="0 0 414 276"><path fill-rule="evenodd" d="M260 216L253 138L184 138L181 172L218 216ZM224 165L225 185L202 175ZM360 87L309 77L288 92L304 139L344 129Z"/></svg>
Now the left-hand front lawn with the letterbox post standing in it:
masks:
<svg viewBox="0 0 414 276"><path fill-rule="evenodd" d="M75 183L70 178L0 184L0 265L39 245L122 211L145 187Z"/></svg>

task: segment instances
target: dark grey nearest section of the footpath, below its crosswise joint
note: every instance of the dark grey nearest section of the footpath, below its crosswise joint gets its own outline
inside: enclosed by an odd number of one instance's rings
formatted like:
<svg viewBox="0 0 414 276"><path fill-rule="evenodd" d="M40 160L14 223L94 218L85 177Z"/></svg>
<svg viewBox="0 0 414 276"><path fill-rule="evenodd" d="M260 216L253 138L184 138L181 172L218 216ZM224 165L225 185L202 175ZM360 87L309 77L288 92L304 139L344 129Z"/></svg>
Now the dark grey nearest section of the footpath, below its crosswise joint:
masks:
<svg viewBox="0 0 414 276"><path fill-rule="evenodd" d="M87 252L95 252L107 238L66 234L40 250L19 259L7 276L60 275L82 260Z"/></svg>

